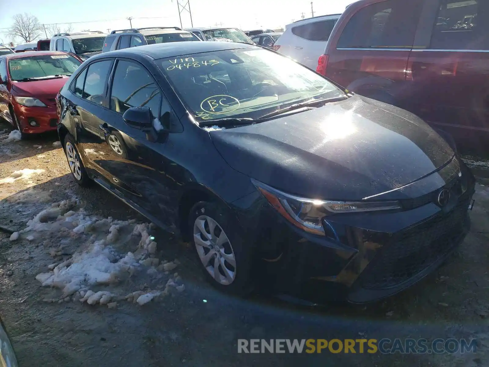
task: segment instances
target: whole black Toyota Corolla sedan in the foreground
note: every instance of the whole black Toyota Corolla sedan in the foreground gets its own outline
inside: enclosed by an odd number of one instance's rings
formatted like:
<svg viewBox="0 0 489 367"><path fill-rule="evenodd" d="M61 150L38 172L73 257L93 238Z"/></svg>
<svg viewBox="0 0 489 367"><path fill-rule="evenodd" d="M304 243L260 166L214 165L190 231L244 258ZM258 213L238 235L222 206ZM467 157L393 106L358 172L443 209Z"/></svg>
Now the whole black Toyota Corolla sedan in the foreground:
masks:
<svg viewBox="0 0 489 367"><path fill-rule="evenodd" d="M107 52L57 100L75 180L192 242L223 291L376 300L469 228L473 177L434 130L258 46Z"/></svg>

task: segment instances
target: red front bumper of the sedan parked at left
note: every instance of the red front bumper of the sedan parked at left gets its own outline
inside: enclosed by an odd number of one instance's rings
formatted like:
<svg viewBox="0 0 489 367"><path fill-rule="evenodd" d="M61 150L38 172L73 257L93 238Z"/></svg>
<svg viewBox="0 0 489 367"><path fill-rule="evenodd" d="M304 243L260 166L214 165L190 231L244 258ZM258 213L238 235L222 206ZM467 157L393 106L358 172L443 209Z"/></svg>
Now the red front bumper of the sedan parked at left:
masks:
<svg viewBox="0 0 489 367"><path fill-rule="evenodd" d="M14 109L19 119L22 133L40 134L46 131L56 131L58 113L55 106L25 107L16 103ZM31 121L35 121L36 125L31 126Z"/></svg>

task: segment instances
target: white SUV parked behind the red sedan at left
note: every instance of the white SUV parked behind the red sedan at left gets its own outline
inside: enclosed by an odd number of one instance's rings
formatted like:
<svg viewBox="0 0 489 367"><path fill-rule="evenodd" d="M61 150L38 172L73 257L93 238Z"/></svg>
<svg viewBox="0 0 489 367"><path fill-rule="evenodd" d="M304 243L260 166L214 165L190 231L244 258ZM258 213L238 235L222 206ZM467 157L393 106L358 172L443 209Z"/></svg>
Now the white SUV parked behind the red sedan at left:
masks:
<svg viewBox="0 0 489 367"><path fill-rule="evenodd" d="M57 33L51 38L51 51L65 51L77 55L83 61L102 52L106 33L101 31Z"/></svg>

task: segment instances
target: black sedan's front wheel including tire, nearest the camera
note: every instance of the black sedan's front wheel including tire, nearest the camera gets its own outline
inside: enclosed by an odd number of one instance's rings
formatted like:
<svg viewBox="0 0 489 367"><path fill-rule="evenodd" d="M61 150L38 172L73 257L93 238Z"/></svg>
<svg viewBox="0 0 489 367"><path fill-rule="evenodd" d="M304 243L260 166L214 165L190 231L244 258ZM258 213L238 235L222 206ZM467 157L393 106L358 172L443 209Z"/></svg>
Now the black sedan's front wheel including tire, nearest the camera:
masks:
<svg viewBox="0 0 489 367"><path fill-rule="evenodd" d="M226 293L249 294L253 249L245 244L229 210L217 203L197 203L190 210L189 231L207 281Z"/></svg>

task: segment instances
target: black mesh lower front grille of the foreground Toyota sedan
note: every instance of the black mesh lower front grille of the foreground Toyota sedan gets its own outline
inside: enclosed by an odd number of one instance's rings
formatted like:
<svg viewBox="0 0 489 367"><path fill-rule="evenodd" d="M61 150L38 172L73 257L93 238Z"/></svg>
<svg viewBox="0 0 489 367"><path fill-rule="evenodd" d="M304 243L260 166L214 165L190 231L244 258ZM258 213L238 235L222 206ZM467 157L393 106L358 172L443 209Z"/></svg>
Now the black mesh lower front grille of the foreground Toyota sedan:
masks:
<svg viewBox="0 0 489 367"><path fill-rule="evenodd" d="M395 236L364 271L363 287L391 288L409 280L449 252L467 225L468 202Z"/></svg>

